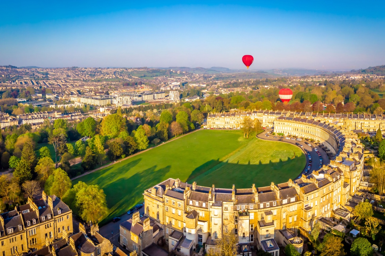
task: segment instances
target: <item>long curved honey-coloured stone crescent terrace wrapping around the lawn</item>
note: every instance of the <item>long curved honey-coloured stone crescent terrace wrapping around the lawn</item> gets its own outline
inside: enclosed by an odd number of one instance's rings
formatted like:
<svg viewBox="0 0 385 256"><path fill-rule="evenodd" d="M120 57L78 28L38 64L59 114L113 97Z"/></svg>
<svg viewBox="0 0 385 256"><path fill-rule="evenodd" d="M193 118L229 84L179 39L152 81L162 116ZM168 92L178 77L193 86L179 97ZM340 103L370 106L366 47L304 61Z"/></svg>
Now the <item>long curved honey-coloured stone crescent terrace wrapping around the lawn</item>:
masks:
<svg viewBox="0 0 385 256"><path fill-rule="evenodd" d="M170 178L144 191L143 219L148 217L146 221L157 226L156 240L164 237L169 251L182 256L199 253L203 244L206 251L215 250L216 242L232 233L238 240L238 255L251 255L261 248L278 256L279 247L288 243L302 252L298 229L308 232L316 221L331 228L337 226L335 219L349 221L350 201L363 173L363 146L357 134L315 122L279 117L274 124L275 129L323 139L333 151L335 157L328 166L308 175L267 187L251 184L246 189L204 187ZM144 226L143 222L143 230ZM125 242L134 243L129 238Z"/></svg>

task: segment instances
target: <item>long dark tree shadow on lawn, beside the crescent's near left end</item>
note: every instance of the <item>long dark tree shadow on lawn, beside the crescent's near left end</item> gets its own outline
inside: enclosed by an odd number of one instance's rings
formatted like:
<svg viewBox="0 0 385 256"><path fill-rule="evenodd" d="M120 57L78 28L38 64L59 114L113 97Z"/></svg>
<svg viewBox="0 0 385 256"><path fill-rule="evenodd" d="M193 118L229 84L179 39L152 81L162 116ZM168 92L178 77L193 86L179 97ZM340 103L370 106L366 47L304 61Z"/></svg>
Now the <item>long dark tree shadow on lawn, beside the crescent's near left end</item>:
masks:
<svg viewBox="0 0 385 256"><path fill-rule="evenodd" d="M131 177L118 179L105 186L104 193L107 195L109 214L100 223L101 225L115 216L124 214L135 204L143 201L143 192L162 182L166 174L170 172L171 166L158 170L156 168L156 165L152 166Z"/></svg>

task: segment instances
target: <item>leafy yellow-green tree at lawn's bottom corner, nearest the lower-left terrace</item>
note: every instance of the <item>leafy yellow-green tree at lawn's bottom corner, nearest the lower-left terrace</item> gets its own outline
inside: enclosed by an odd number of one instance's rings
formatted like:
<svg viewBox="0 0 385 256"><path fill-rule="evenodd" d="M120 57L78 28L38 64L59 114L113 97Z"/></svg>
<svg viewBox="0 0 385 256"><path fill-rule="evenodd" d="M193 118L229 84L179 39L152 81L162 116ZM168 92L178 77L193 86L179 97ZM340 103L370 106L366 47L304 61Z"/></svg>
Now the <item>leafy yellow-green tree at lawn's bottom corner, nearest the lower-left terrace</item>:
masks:
<svg viewBox="0 0 385 256"><path fill-rule="evenodd" d="M108 212L104 191L99 189L98 185L87 186L82 184L84 182L79 183L74 186L74 189L77 189L77 186L81 187L75 197L80 217L86 222L98 223L100 218Z"/></svg>

